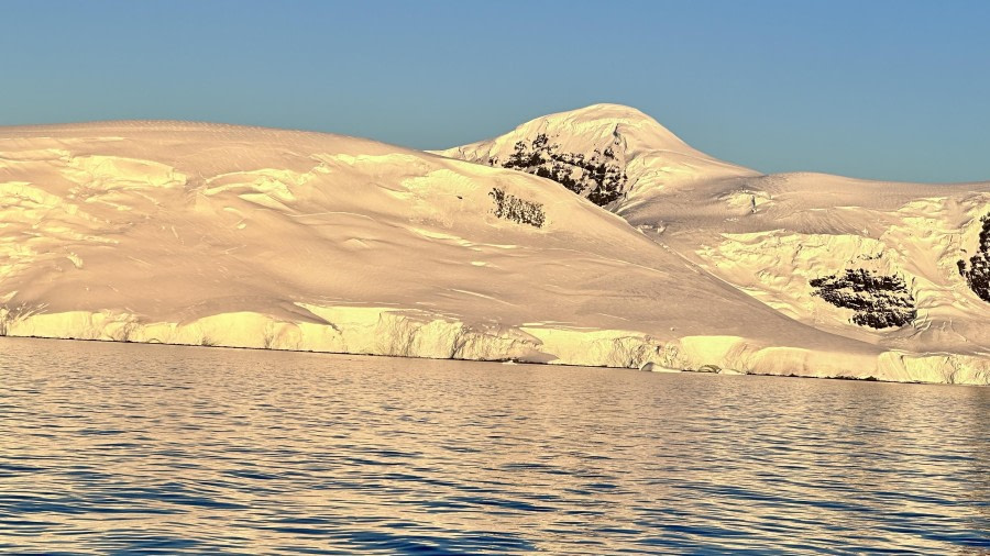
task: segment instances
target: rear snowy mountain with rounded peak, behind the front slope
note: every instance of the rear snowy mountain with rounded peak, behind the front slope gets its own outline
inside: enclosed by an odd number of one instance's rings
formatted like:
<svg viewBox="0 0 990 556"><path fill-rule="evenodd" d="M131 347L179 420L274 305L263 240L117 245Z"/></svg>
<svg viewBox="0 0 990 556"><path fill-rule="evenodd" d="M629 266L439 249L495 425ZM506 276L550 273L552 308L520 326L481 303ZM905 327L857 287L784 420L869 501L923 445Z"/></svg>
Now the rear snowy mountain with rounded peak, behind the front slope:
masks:
<svg viewBox="0 0 990 556"><path fill-rule="evenodd" d="M505 166L512 145L535 141L571 157L612 146L627 181L606 209L783 315L887 349L990 353L988 182L763 176L701 154L646 114L612 104L551 114L442 154ZM552 164L508 166L546 175L540 168Z"/></svg>

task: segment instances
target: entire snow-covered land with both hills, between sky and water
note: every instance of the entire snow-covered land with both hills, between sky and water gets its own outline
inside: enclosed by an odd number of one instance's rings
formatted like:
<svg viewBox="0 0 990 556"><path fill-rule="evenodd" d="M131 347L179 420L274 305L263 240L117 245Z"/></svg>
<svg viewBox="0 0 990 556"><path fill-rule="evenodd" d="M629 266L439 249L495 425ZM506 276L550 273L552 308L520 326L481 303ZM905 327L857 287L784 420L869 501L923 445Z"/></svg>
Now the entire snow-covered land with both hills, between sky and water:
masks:
<svg viewBox="0 0 990 556"><path fill-rule="evenodd" d="M439 154L0 127L0 334L986 385L987 213L988 184L762 176L610 104Z"/></svg>

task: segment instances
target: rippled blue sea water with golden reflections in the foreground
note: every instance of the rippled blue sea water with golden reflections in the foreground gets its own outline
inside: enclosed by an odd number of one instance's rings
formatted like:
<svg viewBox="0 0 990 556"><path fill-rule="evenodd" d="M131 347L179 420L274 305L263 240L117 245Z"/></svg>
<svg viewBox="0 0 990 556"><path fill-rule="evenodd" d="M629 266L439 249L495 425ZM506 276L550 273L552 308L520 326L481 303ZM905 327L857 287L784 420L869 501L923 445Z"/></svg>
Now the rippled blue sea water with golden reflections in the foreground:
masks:
<svg viewBox="0 0 990 556"><path fill-rule="evenodd" d="M990 553L990 389L0 337L0 553Z"/></svg>

